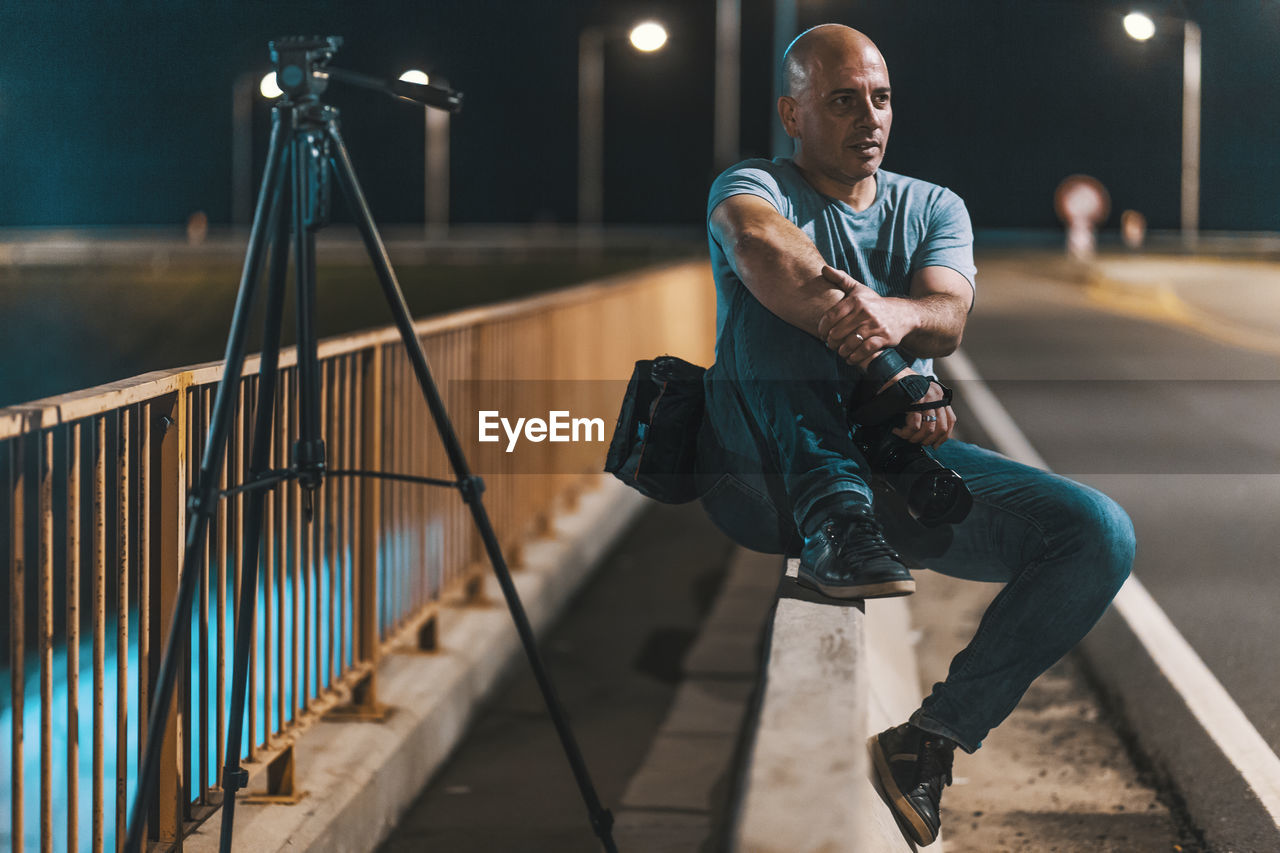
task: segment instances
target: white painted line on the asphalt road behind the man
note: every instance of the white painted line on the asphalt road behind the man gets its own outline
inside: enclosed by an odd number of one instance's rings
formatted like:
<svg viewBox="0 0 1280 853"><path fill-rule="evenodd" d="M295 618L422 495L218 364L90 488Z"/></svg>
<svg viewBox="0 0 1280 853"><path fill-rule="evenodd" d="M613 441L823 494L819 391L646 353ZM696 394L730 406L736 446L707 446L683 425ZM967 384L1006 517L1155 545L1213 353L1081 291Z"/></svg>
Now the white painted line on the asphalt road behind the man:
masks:
<svg viewBox="0 0 1280 853"><path fill-rule="evenodd" d="M1019 462L1050 470L968 356L959 351L951 353L946 369L964 383L965 403L997 451ZM1161 674L1181 695L1187 708L1280 827L1280 757L1134 575L1129 575L1121 587L1115 606Z"/></svg>

